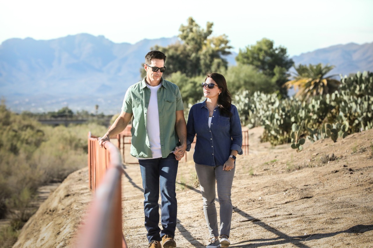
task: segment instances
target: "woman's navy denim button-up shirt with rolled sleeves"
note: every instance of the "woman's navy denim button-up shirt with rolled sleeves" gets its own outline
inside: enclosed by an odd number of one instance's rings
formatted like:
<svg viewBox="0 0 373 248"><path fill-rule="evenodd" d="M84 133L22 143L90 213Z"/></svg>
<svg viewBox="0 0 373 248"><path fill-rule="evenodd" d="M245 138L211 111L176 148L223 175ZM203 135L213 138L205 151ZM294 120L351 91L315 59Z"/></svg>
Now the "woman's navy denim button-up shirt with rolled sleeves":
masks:
<svg viewBox="0 0 373 248"><path fill-rule="evenodd" d="M235 105L231 104L232 116L220 115L220 108L216 107L209 127L209 109L206 101L194 104L186 124L187 130L187 151L197 134L194 147L193 159L200 165L218 166L224 165L231 155L231 150L242 154L242 130L238 111Z"/></svg>

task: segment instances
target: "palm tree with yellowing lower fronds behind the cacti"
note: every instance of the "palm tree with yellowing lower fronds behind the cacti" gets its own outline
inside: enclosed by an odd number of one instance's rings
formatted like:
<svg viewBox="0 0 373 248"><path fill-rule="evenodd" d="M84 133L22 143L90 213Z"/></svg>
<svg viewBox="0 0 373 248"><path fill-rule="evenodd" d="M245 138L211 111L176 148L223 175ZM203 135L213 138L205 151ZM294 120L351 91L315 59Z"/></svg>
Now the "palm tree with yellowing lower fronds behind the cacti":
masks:
<svg viewBox="0 0 373 248"><path fill-rule="evenodd" d="M285 83L285 87L290 89L291 87L297 92L296 97L307 101L312 96L326 95L328 93L333 93L338 90L340 81L332 79L333 76L325 76L329 71L331 71L334 66L323 66L321 63L315 65L310 64L309 66L300 64L294 67L297 73L290 80ZM297 91L298 90L298 91Z"/></svg>

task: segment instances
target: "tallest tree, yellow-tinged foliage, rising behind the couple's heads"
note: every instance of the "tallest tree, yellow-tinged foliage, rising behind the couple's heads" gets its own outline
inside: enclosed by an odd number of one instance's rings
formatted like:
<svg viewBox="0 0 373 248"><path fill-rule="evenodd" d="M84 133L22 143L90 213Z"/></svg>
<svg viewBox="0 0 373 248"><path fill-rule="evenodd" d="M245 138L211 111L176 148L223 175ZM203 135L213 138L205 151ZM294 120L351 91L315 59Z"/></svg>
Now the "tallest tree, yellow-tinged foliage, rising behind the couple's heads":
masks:
<svg viewBox="0 0 373 248"><path fill-rule="evenodd" d="M213 32L212 27L213 23L207 22L206 29L203 29L189 17L188 24L180 26L180 42L151 48L167 55L167 75L179 71L187 77L194 77L228 67L228 61L222 56L231 54L229 50L232 47L226 35L209 38Z"/></svg>

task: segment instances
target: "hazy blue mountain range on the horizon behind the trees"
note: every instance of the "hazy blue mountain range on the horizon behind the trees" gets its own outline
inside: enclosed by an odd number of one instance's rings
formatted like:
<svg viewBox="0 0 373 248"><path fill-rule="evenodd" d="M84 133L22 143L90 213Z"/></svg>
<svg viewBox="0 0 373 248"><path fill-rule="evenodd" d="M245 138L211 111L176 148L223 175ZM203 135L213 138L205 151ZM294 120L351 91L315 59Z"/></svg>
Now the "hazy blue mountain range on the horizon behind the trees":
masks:
<svg viewBox="0 0 373 248"><path fill-rule="evenodd" d="M141 80L144 56L176 36L114 43L104 36L69 35L51 40L8 39L0 45L0 97L14 112L120 112L127 88ZM236 53L226 58L235 66ZM295 64L332 64L333 74L373 71L373 42L335 45L292 57Z"/></svg>

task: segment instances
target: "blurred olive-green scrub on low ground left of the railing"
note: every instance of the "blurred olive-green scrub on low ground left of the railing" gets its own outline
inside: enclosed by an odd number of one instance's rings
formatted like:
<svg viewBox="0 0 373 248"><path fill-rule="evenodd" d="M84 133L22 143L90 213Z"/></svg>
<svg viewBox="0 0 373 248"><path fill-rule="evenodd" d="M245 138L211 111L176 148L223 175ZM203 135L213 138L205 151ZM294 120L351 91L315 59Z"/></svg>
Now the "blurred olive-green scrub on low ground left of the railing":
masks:
<svg viewBox="0 0 373 248"><path fill-rule="evenodd" d="M51 127L18 115L0 104L0 218L10 217L2 229L0 247L11 247L17 232L36 209L30 206L37 188L61 182L87 166L88 131L105 133L96 123Z"/></svg>

